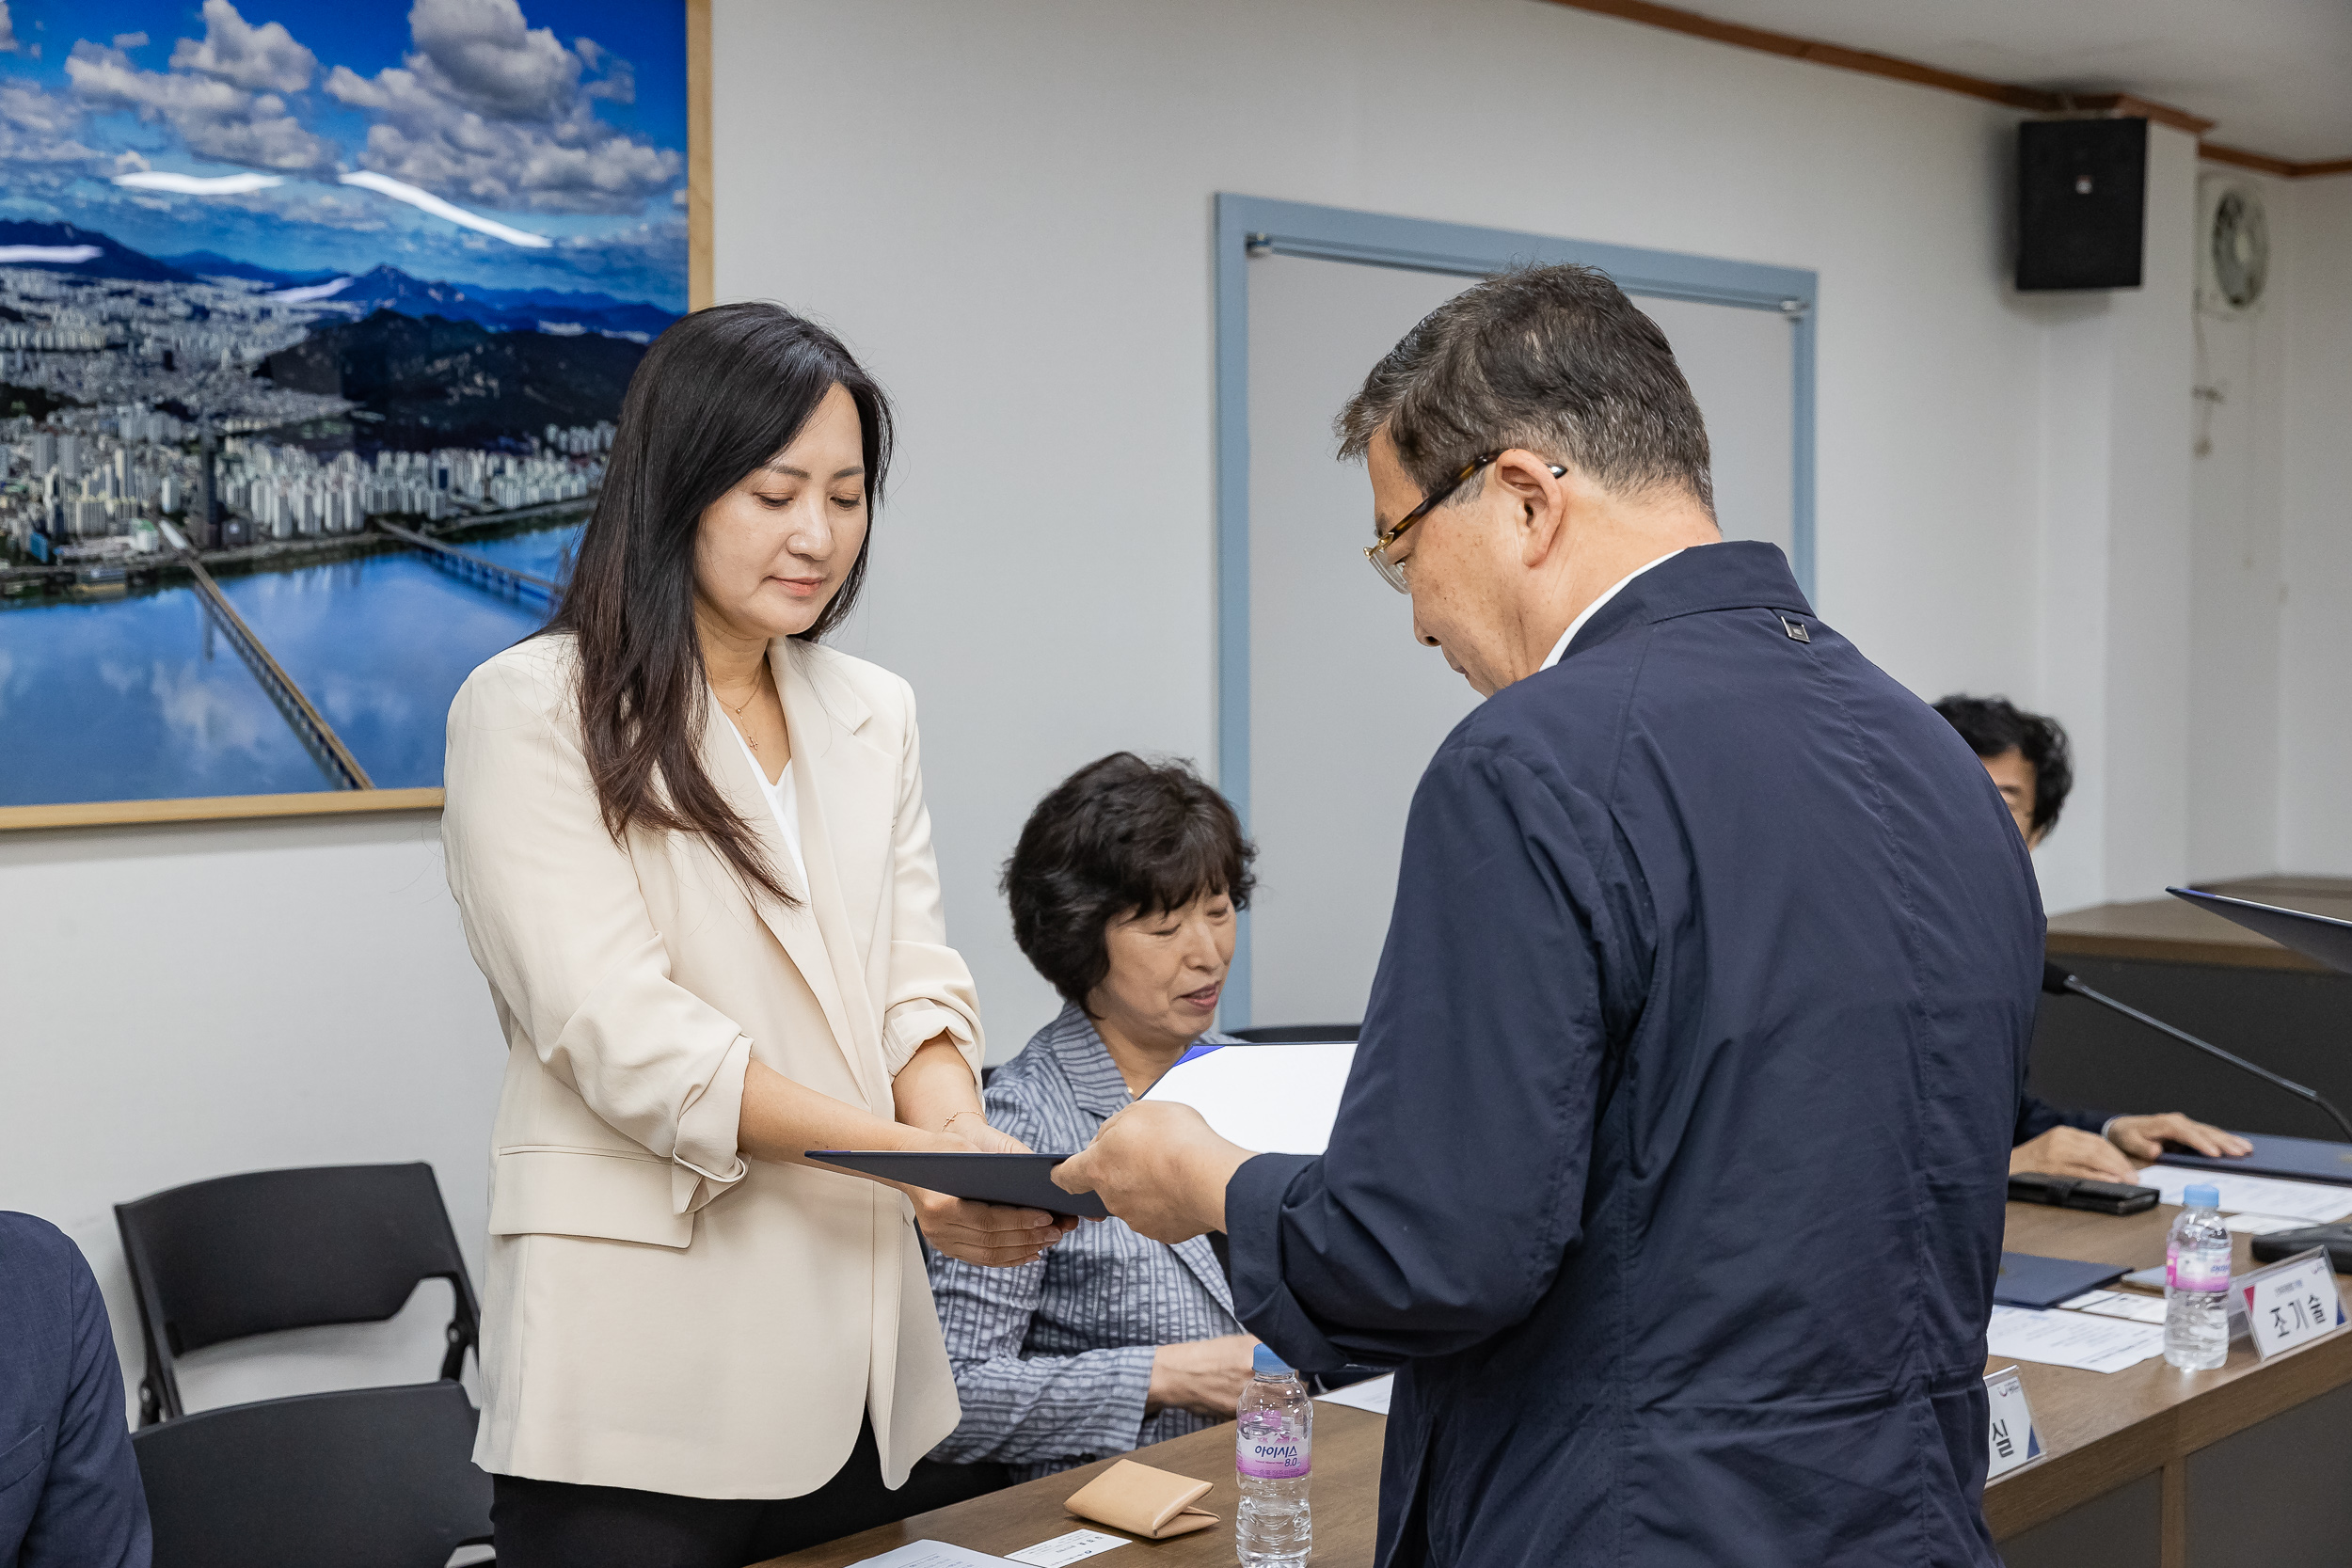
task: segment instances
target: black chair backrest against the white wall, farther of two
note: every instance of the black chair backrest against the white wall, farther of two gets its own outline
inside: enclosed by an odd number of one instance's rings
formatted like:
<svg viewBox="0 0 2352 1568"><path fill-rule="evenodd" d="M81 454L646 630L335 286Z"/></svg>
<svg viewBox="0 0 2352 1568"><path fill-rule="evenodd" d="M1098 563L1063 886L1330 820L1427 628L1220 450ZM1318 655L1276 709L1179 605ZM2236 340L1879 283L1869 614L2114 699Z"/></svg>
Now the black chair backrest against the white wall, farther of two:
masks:
<svg viewBox="0 0 2352 1568"><path fill-rule="evenodd" d="M174 1418L176 1356L318 1324L381 1324L421 1279L456 1298L442 1378L480 1340L480 1309L433 1166L249 1171L115 1204L148 1368L139 1422Z"/></svg>

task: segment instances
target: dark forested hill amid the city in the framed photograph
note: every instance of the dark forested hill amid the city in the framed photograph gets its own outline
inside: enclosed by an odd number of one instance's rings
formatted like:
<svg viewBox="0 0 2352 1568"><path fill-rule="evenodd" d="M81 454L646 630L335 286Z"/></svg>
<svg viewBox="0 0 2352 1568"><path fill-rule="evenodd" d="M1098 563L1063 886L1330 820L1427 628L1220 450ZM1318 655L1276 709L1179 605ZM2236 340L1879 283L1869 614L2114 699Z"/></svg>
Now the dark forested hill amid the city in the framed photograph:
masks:
<svg viewBox="0 0 2352 1568"><path fill-rule="evenodd" d="M282 390L348 397L381 421L369 437L386 447L480 447L612 418L642 357L628 339L492 331L383 308L315 327L261 374Z"/></svg>

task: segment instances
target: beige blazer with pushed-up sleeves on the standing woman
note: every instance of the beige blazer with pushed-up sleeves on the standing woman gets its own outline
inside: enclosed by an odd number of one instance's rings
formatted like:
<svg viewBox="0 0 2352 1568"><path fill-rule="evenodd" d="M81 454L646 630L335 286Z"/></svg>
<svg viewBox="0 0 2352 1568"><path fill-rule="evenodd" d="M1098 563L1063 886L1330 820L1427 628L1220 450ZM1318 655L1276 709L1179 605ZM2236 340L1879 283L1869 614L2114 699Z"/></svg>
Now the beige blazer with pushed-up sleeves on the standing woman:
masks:
<svg viewBox="0 0 2352 1568"><path fill-rule="evenodd" d="M449 708L449 891L508 1044L473 1455L494 1474L797 1497L863 1415L889 1486L957 1422L906 1197L736 1152L750 1058L877 1117L922 1041L981 1065L908 684L802 642L769 663L797 910L750 898L699 835L604 832L567 637L499 654ZM790 884L717 703L701 759Z"/></svg>

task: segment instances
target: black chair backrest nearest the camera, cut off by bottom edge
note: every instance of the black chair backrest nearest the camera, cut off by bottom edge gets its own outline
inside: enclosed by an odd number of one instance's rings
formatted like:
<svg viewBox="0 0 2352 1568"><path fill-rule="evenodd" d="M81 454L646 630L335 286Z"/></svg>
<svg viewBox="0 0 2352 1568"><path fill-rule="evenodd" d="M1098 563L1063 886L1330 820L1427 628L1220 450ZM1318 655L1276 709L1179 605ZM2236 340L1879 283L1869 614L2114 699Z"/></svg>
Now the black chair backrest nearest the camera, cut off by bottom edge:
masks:
<svg viewBox="0 0 2352 1568"><path fill-rule="evenodd" d="M132 1434L155 1568L442 1568L489 1540L456 1382L198 1410Z"/></svg>

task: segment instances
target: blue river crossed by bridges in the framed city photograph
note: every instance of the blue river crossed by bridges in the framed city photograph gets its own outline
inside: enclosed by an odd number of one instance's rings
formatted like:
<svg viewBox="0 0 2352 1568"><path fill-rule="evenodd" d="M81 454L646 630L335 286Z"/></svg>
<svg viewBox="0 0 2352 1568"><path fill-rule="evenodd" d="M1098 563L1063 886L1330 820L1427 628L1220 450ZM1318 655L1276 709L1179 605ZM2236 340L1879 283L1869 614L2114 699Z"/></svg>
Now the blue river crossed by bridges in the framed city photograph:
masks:
<svg viewBox="0 0 2352 1568"><path fill-rule="evenodd" d="M553 578L576 536L461 548ZM546 616L421 552L219 581L386 790L440 785L449 698ZM193 585L0 609L0 806L332 788Z"/></svg>

